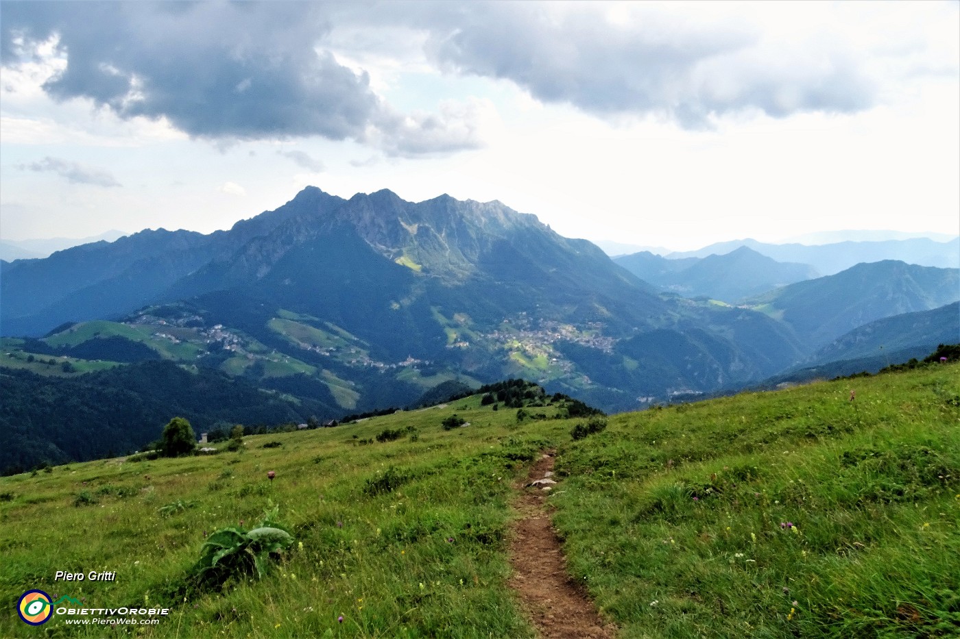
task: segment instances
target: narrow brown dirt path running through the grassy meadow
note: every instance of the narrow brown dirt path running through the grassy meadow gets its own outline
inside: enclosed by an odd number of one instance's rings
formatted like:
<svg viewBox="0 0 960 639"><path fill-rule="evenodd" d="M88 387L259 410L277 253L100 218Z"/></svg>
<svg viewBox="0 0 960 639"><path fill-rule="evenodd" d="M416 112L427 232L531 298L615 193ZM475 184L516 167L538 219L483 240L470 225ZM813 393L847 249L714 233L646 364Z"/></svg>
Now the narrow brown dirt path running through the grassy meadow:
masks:
<svg viewBox="0 0 960 639"><path fill-rule="evenodd" d="M560 539L544 501L556 480L553 453L542 454L529 479L516 485L520 518L513 525L510 586L542 639L613 639L616 628L604 624L583 589L566 573Z"/></svg>

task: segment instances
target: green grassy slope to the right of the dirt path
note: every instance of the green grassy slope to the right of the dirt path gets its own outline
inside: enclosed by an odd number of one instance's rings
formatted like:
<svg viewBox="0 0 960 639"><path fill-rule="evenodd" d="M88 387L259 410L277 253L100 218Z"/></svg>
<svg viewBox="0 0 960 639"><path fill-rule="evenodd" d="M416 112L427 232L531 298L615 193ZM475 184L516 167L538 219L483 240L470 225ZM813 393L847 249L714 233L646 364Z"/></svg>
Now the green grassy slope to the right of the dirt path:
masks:
<svg viewBox="0 0 960 639"><path fill-rule="evenodd" d="M623 637L957 636L957 380L617 415L560 456L571 572Z"/></svg>

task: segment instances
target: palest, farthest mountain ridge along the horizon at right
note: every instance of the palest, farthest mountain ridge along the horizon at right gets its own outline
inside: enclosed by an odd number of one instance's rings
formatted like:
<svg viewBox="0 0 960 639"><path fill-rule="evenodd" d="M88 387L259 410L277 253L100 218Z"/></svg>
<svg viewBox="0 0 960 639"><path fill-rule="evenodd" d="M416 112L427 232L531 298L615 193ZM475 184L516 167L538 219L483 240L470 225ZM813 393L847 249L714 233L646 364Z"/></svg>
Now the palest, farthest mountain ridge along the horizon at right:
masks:
<svg viewBox="0 0 960 639"><path fill-rule="evenodd" d="M749 247L778 262L809 264L818 272L832 275L862 262L900 260L907 264L938 268L960 268L960 238L934 242L926 238L887 240L883 242L839 242L820 246L802 244L764 244L756 240L719 242L698 250L673 252L671 259L722 255L740 247Z"/></svg>

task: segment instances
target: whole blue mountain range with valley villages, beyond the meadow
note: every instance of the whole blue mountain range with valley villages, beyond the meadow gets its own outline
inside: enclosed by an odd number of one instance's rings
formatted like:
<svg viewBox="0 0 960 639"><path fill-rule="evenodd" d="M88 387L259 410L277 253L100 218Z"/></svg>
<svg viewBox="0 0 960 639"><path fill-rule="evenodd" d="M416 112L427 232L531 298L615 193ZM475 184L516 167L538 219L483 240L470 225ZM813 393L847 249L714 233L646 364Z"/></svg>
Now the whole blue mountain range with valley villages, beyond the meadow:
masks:
<svg viewBox="0 0 960 639"><path fill-rule="evenodd" d="M614 262L498 201L315 187L227 231L146 230L0 266L10 366L159 358L323 416L512 376L635 409L742 388L860 325L960 298L956 270L815 277L749 248Z"/></svg>

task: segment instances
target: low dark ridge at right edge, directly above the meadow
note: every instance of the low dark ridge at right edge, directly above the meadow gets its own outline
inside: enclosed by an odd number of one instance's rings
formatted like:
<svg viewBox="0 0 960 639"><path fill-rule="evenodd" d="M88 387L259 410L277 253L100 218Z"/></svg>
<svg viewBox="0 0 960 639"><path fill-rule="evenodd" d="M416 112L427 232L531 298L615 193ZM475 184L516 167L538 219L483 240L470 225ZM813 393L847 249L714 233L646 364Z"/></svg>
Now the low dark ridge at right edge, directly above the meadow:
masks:
<svg viewBox="0 0 960 639"><path fill-rule="evenodd" d="M887 366L905 361L904 355L906 359L923 357L941 343L960 343L960 302L854 328L814 353L805 365L873 357Z"/></svg>

